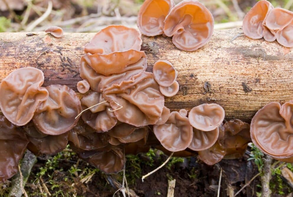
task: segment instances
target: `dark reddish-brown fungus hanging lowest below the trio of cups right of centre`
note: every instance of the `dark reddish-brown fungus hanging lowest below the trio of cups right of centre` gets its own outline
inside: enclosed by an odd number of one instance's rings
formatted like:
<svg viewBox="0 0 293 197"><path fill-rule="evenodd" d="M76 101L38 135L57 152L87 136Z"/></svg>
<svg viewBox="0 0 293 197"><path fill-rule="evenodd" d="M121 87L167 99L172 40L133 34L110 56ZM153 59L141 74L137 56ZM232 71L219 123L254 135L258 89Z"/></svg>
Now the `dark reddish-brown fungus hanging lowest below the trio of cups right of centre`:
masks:
<svg viewBox="0 0 293 197"><path fill-rule="evenodd" d="M209 149L198 152L199 159L207 165L215 165L220 162L225 154L225 149L221 147L218 141Z"/></svg>

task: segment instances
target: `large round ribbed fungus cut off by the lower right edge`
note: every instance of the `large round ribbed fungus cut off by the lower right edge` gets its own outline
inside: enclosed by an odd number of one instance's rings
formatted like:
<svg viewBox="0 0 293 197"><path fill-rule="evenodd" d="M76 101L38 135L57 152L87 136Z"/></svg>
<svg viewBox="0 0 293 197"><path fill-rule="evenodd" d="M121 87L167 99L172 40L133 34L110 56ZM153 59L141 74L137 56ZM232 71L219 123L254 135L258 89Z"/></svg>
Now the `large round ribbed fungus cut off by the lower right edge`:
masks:
<svg viewBox="0 0 293 197"><path fill-rule="evenodd" d="M252 142L264 153L284 159L293 156L293 101L271 102L252 118Z"/></svg>

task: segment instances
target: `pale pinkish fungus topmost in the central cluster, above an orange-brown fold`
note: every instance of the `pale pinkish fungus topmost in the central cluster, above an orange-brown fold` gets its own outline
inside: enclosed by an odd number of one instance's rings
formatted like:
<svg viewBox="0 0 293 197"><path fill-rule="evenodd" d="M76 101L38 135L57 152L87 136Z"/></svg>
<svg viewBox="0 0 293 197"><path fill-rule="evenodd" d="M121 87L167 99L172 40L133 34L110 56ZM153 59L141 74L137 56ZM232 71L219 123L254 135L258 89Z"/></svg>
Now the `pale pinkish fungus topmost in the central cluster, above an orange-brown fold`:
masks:
<svg viewBox="0 0 293 197"><path fill-rule="evenodd" d="M109 25L102 29L86 44L85 53L109 54L134 49L140 51L141 34L134 28L123 25Z"/></svg>

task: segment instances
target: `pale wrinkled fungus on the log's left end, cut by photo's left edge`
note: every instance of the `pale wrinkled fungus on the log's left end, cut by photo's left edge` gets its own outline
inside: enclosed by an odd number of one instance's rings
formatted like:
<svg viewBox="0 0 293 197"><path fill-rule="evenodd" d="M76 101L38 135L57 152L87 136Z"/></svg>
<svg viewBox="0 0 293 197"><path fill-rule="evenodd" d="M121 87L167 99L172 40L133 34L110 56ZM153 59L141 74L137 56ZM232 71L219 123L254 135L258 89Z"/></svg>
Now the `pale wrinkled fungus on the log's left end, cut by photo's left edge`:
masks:
<svg viewBox="0 0 293 197"><path fill-rule="evenodd" d="M23 126L30 122L40 104L48 98L48 90L41 85L44 73L32 67L20 68L1 81L0 108L13 124Z"/></svg>

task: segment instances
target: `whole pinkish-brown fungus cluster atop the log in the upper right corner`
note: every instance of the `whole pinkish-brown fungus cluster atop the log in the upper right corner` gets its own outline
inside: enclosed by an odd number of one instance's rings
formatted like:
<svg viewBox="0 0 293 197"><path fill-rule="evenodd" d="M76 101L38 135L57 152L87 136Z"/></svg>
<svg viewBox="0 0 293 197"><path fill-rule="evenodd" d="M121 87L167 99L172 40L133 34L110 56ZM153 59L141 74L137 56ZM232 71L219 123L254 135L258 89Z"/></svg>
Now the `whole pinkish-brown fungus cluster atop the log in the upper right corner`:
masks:
<svg viewBox="0 0 293 197"><path fill-rule="evenodd" d="M248 38L278 41L293 47L293 12L274 8L267 0L258 1L243 19L243 32Z"/></svg>

